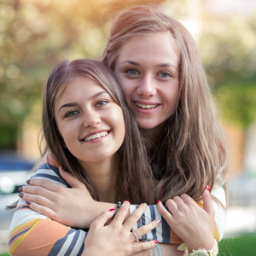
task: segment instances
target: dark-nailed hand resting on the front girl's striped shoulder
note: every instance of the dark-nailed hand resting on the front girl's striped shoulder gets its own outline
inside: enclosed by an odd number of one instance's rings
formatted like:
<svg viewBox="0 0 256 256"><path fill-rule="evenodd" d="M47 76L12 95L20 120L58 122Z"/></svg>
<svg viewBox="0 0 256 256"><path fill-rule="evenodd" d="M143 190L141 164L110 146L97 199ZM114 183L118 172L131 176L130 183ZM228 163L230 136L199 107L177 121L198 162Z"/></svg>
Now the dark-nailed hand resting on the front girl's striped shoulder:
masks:
<svg viewBox="0 0 256 256"><path fill-rule="evenodd" d="M29 201L32 210L74 228L89 228L90 223L105 209L115 205L93 200L84 183L73 177L69 172L59 169L61 177L72 188L64 188L50 181L33 178L30 186L22 187L22 199ZM73 218L76 216L76 218Z"/></svg>

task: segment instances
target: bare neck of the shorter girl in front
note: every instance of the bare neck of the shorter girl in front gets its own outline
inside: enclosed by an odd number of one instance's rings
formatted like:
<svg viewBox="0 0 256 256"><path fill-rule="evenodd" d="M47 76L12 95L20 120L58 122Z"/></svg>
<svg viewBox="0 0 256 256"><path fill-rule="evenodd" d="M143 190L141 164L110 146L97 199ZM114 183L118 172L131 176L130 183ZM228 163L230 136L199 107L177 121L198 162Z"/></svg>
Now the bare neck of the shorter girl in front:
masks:
<svg viewBox="0 0 256 256"><path fill-rule="evenodd" d="M96 189L98 201L115 202L114 180L118 169L118 154L101 162L81 164Z"/></svg>

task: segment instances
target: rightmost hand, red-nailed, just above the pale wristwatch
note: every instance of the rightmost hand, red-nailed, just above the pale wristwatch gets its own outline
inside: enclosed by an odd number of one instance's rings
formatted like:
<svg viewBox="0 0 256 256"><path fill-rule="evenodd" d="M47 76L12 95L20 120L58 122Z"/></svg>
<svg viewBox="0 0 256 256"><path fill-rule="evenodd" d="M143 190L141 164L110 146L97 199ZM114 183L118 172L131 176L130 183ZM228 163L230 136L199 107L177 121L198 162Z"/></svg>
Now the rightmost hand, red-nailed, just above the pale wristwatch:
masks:
<svg viewBox="0 0 256 256"><path fill-rule="evenodd" d="M206 189L202 195L202 209L189 195L175 196L157 204L158 211L166 219L170 228L186 242L189 250L214 246L214 209L211 195Z"/></svg>

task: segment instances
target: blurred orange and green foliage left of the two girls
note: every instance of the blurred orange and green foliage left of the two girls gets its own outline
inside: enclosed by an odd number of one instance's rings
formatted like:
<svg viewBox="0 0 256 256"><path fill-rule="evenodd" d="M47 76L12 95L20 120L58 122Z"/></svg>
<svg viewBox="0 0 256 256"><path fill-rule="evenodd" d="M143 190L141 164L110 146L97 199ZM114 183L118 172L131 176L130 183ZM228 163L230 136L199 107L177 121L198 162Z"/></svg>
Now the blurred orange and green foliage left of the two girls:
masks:
<svg viewBox="0 0 256 256"><path fill-rule="evenodd" d="M117 11L161 2L0 0L0 149L16 147L19 128L55 62L96 58Z"/></svg>

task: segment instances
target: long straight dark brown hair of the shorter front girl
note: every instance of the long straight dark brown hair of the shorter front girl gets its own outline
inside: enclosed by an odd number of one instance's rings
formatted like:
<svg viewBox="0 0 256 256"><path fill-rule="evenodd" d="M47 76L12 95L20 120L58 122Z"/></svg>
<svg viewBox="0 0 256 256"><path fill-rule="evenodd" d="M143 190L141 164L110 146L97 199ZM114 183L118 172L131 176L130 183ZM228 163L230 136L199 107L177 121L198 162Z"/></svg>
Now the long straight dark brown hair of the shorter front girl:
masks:
<svg viewBox="0 0 256 256"><path fill-rule="evenodd" d="M86 176L79 161L63 147L62 137L55 122L54 104L57 90L62 84L69 84L78 77L86 77L100 84L113 100L122 108L125 119L125 139L119 148L119 168L116 173L115 193L117 201L129 200L133 203L154 202L152 195L152 175L147 153L137 127L137 122L125 102L125 96L113 72L100 61L61 61L53 68L44 86L43 131L47 147L64 170L71 172L83 182L95 199L96 189Z"/></svg>

